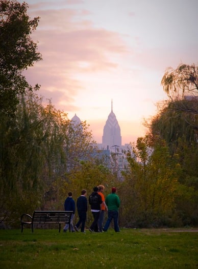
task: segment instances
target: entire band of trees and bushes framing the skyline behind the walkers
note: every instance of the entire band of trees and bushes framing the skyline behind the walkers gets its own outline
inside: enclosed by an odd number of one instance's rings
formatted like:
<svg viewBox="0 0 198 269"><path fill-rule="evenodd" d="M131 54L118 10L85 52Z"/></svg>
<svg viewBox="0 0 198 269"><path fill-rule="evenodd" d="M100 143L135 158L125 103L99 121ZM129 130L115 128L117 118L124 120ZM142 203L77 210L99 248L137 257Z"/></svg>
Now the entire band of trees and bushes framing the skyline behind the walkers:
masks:
<svg viewBox="0 0 198 269"><path fill-rule="evenodd" d="M198 224L198 67L168 69L168 99L145 122L148 132L124 154L122 180L98 153L86 122L73 124L51 101L43 105L22 71L41 60L28 5L0 1L0 221L19 227L23 213L63 210L95 185L118 189L121 227ZM20 26L20 27L19 27ZM17 29L17 31L13 31ZM112 161L114 158L112 156ZM113 166L114 168L116 165ZM92 216L88 211L87 224Z"/></svg>

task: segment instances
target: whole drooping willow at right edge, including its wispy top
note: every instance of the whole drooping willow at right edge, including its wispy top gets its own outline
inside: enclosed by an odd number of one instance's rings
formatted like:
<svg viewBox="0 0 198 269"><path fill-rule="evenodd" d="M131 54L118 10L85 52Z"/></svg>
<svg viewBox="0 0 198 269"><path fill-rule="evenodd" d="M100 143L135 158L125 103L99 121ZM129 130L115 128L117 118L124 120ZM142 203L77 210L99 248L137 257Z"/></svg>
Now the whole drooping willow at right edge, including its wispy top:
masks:
<svg viewBox="0 0 198 269"><path fill-rule="evenodd" d="M194 64L168 68L161 84L169 99L147 125L151 133L167 142L170 153L177 152L179 139L188 147L198 141L198 67Z"/></svg>

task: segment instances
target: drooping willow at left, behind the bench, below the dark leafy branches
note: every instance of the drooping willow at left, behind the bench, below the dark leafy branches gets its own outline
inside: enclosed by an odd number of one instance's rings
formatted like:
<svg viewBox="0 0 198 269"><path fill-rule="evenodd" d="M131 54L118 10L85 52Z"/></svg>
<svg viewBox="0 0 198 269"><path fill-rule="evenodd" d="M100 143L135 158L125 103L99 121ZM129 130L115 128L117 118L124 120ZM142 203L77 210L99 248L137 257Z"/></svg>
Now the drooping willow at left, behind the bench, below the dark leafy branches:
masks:
<svg viewBox="0 0 198 269"><path fill-rule="evenodd" d="M16 118L2 135L1 212L12 219L45 206L52 184L66 171L69 120L35 94L21 96Z"/></svg>

